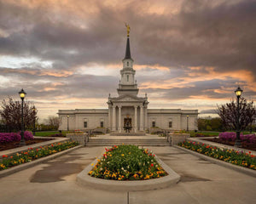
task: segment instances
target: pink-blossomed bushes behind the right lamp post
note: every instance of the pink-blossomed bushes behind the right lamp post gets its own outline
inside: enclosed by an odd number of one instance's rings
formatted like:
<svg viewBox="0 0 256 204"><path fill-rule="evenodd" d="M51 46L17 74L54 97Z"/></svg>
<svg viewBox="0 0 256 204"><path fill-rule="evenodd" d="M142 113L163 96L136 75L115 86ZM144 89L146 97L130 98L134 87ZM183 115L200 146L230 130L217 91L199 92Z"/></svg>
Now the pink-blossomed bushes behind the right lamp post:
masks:
<svg viewBox="0 0 256 204"><path fill-rule="evenodd" d="M234 133L234 132L219 133L218 139L223 140L223 141L235 141L236 133ZM243 135L242 133L240 133L240 139L241 139L241 141L246 141L247 143L256 143L255 134Z"/></svg>

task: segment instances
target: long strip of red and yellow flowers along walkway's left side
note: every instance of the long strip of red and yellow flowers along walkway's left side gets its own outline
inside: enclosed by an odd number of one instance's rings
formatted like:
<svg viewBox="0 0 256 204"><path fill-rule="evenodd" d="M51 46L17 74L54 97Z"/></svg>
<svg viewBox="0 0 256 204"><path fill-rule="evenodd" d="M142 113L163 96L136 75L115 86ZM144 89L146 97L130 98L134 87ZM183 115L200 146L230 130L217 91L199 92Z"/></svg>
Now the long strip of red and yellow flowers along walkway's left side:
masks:
<svg viewBox="0 0 256 204"><path fill-rule="evenodd" d="M40 147L38 149L28 148L26 151L21 151L16 153L14 156L2 156L2 161L0 161L0 171L9 167L14 167L22 163L30 162L38 158L49 156L55 154L56 152L70 149L76 145L77 142L64 142L64 143L54 143L48 146Z"/></svg>

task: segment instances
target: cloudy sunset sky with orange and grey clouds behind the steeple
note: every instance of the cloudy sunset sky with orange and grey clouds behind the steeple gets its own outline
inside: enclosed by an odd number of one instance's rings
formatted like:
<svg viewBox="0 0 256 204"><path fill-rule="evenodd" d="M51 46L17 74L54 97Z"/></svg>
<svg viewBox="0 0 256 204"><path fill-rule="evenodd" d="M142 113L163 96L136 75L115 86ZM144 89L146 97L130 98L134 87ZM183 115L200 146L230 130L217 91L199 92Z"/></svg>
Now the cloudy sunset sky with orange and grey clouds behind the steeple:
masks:
<svg viewBox="0 0 256 204"><path fill-rule="evenodd" d="M125 56L149 108L211 113L256 99L256 1L0 0L0 99L24 88L42 119L107 108Z"/></svg>

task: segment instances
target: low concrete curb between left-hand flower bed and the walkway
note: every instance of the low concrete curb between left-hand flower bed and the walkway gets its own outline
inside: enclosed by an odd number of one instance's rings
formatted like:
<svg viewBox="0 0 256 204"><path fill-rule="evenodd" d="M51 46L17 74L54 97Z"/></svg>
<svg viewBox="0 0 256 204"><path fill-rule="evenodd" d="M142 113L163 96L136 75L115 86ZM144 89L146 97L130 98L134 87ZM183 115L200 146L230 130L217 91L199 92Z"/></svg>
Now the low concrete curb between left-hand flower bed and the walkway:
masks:
<svg viewBox="0 0 256 204"><path fill-rule="evenodd" d="M70 149L67 149L67 150L62 150L58 153L55 153L55 154L52 154L52 155L49 155L49 156L44 156L44 157L41 157L41 158L39 158L37 160L34 160L34 161L31 161L31 162L26 162L26 163L20 164L20 165L15 166L15 167L10 167L10 168L4 169L4 170L0 171L0 178L5 177L5 176L9 176L10 174L13 174L13 173L20 172L20 171L25 170L25 169L30 168L30 167L34 167L34 166L36 166L40 163L44 163L46 161L55 159L58 156L65 155L65 154L69 153L70 151L79 149L80 147L82 147L82 145L74 146L73 148L70 148Z"/></svg>

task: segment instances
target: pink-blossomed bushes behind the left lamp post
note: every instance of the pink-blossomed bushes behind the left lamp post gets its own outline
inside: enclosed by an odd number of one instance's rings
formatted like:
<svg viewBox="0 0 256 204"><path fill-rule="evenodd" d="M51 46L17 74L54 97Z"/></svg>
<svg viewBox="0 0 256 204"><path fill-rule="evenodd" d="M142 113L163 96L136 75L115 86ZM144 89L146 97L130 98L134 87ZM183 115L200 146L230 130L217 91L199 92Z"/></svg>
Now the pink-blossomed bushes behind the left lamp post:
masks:
<svg viewBox="0 0 256 204"><path fill-rule="evenodd" d="M0 144L20 141L20 133L0 133ZM24 132L24 139L31 140L34 139L33 134L29 131Z"/></svg>

